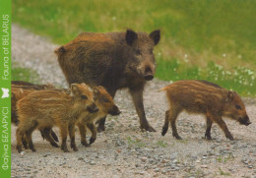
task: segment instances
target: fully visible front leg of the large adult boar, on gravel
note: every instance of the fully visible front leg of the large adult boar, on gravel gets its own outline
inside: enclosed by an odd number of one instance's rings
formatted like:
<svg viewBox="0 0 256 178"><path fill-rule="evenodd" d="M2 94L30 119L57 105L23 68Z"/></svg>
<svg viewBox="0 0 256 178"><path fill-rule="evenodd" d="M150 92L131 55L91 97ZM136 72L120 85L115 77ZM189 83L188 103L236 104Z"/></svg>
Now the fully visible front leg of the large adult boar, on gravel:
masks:
<svg viewBox="0 0 256 178"><path fill-rule="evenodd" d="M150 132L156 132L156 130L150 126L146 115L145 115L145 110L144 110L144 104L143 104L143 88L142 89L130 89L130 93L133 98L133 103L135 105L137 114L139 115L140 118L140 124L141 124L141 129L145 129L146 131Z"/></svg>

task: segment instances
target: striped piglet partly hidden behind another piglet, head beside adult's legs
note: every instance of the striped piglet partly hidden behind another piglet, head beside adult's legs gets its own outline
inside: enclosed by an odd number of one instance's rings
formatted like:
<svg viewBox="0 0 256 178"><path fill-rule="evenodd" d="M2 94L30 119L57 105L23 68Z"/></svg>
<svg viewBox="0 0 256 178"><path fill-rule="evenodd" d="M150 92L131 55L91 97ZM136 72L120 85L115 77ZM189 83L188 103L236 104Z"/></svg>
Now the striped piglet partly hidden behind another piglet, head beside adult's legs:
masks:
<svg viewBox="0 0 256 178"><path fill-rule="evenodd" d="M81 134L81 144L85 147L92 145L96 141L96 122L105 117L107 114L118 115L120 114L119 108L114 104L112 96L103 88L94 88L94 98L98 112L90 114L82 114L78 119L77 126ZM87 128L92 132L90 144L87 143L86 134Z"/></svg>

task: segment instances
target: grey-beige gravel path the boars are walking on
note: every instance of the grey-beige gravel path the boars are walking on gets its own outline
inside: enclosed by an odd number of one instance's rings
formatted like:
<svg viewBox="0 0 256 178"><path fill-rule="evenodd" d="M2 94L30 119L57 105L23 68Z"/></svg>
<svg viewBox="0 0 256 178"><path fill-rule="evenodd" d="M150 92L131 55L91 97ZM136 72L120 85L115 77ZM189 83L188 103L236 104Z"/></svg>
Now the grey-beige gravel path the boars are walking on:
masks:
<svg viewBox="0 0 256 178"><path fill-rule="evenodd" d="M41 83L67 87L53 54L57 45L13 25L13 67L37 71ZM145 89L145 109L156 133L141 132L139 118L127 90L119 90L115 101L122 114L108 117L106 131L99 133L96 143L84 148L76 131L80 151L64 153L42 141L39 133L32 135L36 152L15 149L16 126L12 127L12 177L255 177L256 178L256 105L246 99L252 124L248 127L225 120L235 141L228 141L220 127L212 129L213 141L203 138L205 119L200 115L182 113L177 121L179 135L172 138L170 129L160 136L164 111L164 92L158 89L168 83L154 80ZM54 128L58 134L58 129Z"/></svg>

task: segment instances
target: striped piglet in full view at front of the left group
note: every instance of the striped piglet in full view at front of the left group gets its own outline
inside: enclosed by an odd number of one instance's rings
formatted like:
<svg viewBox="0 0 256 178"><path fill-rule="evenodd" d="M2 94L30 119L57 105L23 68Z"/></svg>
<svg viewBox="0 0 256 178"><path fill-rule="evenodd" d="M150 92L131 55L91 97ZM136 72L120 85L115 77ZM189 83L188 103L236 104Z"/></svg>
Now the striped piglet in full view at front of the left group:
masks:
<svg viewBox="0 0 256 178"><path fill-rule="evenodd" d="M75 144L75 123L80 114L96 112L98 109L92 91L85 84L73 84L71 91L72 94L56 89L38 90L18 101L20 123L16 135L19 152L22 151L21 142L24 134L28 139L29 147L35 151L32 144L33 130L51 129L55 125L60 128L61 149L65 152L69 151L66 145L69 133L71 148L78 150Z"/></svg>

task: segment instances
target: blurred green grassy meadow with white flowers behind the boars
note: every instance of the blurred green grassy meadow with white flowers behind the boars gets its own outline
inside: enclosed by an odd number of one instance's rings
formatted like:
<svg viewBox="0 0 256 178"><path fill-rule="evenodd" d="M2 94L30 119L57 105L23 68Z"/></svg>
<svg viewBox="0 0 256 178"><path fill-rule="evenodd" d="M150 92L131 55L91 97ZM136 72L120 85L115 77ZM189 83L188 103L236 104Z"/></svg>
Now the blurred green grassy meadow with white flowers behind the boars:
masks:
<svg viewBox="0 0 256 178"><path fill-rule="evenodd" d="M64 44L81 31L161 30L157 77L256 95L254 0L13 0L13 23Z"/></svg>

